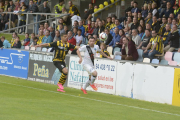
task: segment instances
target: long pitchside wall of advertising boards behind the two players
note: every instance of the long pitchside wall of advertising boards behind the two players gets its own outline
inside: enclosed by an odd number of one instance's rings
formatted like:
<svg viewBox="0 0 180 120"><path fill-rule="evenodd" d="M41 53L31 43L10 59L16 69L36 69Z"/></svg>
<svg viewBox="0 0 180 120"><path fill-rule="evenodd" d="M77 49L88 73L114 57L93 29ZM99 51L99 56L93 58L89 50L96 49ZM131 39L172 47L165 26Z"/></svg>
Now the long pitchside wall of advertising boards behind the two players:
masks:
<svg viewBox="0 0 180 120"><path fill-rule="evenodd" d="M61 73L52 62L53 54L37 51L0 50L0 74L36 82L57 84ZM80 89L88 73L77 56L67 56L66 85ZM97 92L180 106L180 67L95 59ZM88 90L92 91L91 87Z"/></svg>

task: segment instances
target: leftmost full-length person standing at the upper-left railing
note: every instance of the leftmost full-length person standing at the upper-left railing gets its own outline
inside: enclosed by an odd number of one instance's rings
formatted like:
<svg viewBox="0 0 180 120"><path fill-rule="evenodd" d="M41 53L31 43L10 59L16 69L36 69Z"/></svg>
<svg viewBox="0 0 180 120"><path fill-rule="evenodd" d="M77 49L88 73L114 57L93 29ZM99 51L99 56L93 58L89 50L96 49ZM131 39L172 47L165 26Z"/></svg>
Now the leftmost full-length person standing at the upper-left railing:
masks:
<svg viewBox="0 0 180 120"><path fill-rule="evenodd" d="M25 5L23 5L23 7L22 7L22 9L18 12L18 14L17 15L20 15L19 17L19 19L20 19L20 21L19 21L19 26L23 26L23 25L26 25L26 14L23 14L23 13L26 13L26 6ZM21 33L25 33L25 29L26 29L26 27L21 27L21 32L20 32L20 34Z"/></svg>

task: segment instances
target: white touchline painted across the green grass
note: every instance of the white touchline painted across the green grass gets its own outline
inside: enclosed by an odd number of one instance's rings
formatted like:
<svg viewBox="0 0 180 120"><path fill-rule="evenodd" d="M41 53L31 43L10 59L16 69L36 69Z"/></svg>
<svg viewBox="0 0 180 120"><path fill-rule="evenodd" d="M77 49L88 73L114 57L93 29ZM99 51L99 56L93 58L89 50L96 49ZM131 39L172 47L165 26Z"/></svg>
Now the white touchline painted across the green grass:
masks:
<svg viewBox="0 0 180 120"><path fill-rule="evenodd" d="M130 106L130 105L124 105L124 104L102 101L102 100L97 100L97 99L91 99L91 98L86 98L86 97L81 97L81 96L76 96L76 95L71 95L71 94L65 94L65 93L50 91L50 90L45 90L45 89L39 89L39 88L34 88L34 87L28 87L28 86L23 86L23 85L17 85L17 84L12 84L12 83L7 83L7 82L0 82L0 83L24 87L24 88L29 88L29 89L35 89L35 90L40 90L40 91L46 91L46 92L51 92L51 93L57 93L57 94L67 95L67 96L71 96L71 97L76 97L76 98L81 98L81 99L86 99L86 100L91 100L91 101L96 101L96 102L103 102L103 103L112 104L112 105L119 105L119 106L134 108L134 109L140 109L140 110L144 110L144 111L152 111L152 112L156 112L156 113L180 117L180 114L168 113L168 112L163 112L163 111L158 111L158 110L153 110L153 109L146 109L146 108L141 108L141 107L136 107L136 106Z"/></svg>

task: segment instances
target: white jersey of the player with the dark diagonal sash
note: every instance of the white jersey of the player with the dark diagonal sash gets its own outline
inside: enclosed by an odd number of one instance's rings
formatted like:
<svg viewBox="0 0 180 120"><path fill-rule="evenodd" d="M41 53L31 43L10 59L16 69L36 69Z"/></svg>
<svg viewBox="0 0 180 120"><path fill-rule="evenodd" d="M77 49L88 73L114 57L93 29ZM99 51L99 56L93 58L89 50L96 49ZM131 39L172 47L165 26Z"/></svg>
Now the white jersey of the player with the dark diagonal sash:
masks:
<svg viewBox="0 0 180 120"><path fill-rule="evenodd" d="M86 48L87 45L83 45L81 48L79 48L79 51L80 52L84 52L84 59L83 59L83 62L82 64L88 64L90 65L91 67L93 67L93 63L91 61L91 58L89 56L89 52ZM99 49L99 46L98 45L94 45L94 47L91 47L91 50L93 52L93 55L95 55L97 52L100 52L101 50Z"/></svg>

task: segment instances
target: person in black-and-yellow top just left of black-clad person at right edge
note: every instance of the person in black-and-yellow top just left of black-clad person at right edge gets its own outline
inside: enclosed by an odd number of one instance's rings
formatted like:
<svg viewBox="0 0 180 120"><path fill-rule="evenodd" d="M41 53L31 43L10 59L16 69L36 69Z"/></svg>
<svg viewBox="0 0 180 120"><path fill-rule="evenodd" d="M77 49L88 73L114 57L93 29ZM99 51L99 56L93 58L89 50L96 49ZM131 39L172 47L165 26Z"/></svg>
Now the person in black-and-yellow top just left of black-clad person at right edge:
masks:
<svg viewBox="0 0 180 120"><path fill-rule="evenodd" d="M170 25L166 24L165 32L162 35L162 40L163 40L164 47L166 47L168 45L168 43L169 43L170 30L171 30Z"/></svg>

